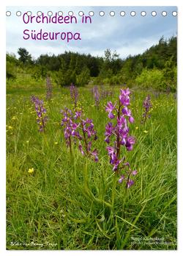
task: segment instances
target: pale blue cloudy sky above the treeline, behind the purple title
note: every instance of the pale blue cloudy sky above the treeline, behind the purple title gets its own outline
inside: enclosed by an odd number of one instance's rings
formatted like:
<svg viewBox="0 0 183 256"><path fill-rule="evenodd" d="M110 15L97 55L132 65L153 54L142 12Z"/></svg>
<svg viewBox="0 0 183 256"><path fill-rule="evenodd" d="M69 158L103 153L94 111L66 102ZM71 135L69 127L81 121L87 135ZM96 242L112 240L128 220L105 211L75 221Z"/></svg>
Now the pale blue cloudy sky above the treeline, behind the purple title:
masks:
<svg viewBox="0 0 183 256"><path fill-rule="evenodd" d="M64 51L77 51L79 53L91 54L93 56L103 56L105 49L111 49L119 54L119 57L126 58L129 55L141 54L152 45L158 43L160 38L168 39L177 35L177 16L172 12L177 11L177 7L7 7L11 12L7 16L7 52L17 54L18 48L26 48L32 57L37 58L40 54L61 54ZM16 12L21 15L17 16ZM77 24L24 24L23 13L31 11L32 15L37 15L41 11L45 15L52 11L53 15L59 11L64 16L69 11L78 19ZM94 12L91 17L91 24L82 24L79 11L84 15ZM100 11L105 15L100 16ZM115 15L111 16L110 12ZM121 16L120 12L125 15ZM135 11L135 16L130 13ZM145 11L146 16L141 12ZM157 13L152 16L152 11ZM167 12L166 16L162 12ZM79 32L81 40L24 40L23 30L35 29L37 32Z"/></svg>

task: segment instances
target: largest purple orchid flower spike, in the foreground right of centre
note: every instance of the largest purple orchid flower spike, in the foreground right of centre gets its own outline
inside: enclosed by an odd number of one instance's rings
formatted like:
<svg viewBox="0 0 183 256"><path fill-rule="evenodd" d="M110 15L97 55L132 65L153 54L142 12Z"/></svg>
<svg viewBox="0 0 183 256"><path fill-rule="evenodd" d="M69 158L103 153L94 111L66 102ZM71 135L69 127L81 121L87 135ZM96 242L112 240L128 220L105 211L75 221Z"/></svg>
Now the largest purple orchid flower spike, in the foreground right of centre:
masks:
<svg viewBox="0 0 183 256"><path fill-rule="evenodd" d="M114 125L112 122L109 122L105 127L105 142L109 144L111 138L114 138L113 146L107 146L106 150L108 151L113 171L115 171L116 174L120 174L123 171L119 178L119 183L125 180L126 188L130 188L130 186L133 185L134 182L130 177L137 174L136 170L131 170L130 163L124 163L125 157L120 157L122 146L125 146L127 151L131 151L135 144L135 138L129 135L130 129L128 123L134 122L129 105L130 90L127 88L120 90L118 108L116 108L116 104L113 105L112 102L108 102L105 107L105 111L108 112L108 118L114 118L114 113L116 113L116 124Z"/></svg>

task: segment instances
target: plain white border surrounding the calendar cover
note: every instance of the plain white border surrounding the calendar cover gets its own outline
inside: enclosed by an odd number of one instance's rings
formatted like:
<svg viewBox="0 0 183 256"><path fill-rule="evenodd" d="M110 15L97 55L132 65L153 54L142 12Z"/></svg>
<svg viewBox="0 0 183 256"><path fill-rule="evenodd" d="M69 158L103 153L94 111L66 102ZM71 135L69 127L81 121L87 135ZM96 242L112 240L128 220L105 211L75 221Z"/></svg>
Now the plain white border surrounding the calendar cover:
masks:
<svg viewBox="0 0 183 256"><path fill-rule="evenodd" d="M180 253L183 253L182 250L182 238L183 238L183 227L182 227L182 221L181 217L183 216L183 210L182 210L182 177L183 177L183 166L182 166L182 152L183 150L181 149L181 146L183 146L183 140L182 140L182 131L183 131L183 126L182 126L182 97L183 97L183 6L182 6L183 1L182 0L129 0L129 1L119 1L119 0L113 0L113 1L106 1L106 0L93 0L93 1L84 1L84 0L67 0L67 1L60 1L60 0L52 0L51 2L46 2L45 0L43 1L38 1L38 0L31 0L31 6L178 6L178 46L179 46L179 51L178 51L178 57L179 57L179 69L178 69L178 174L179 174L179 179L178 179L178 188L179 188L179 236L178 236L178 251L97 251L97 252L91 252L91 251L6 251L5 246L6 246L6 230L5 230L5 216L6 216L6 199L5 199L5 169L6 169L6 162L5 162L5 121L6 121L6 90L5 90L5 85L6 85L6 79L5 79L5 54L6 54L6 44L5 44L5 38L6 38L6 26L5 26L5 12L6 12L6 6L30 6L30 4L25 4L25 1L23 0L9 0L9 1L1 1L1 6L0 6L0 24L1 24L1 40L0 40L0 63L1 63L1 68L0 68L0 110L1 110L1 132L0 132L0 141L1 141L1 169L0 169L0 188L1 188L1 218L0 218L0 254L1 255L24 255L25 253L28 253L29 255L49 255L55 254L55 255L83 255L85 253L89 255L93 255L94 253L97 254L102 254L102 255L108 255L111 253L115 255L129 255L129 254L136 254L136 255L149 255L149 254L156 254L158 253L159 255L177 255Z"/></svg>

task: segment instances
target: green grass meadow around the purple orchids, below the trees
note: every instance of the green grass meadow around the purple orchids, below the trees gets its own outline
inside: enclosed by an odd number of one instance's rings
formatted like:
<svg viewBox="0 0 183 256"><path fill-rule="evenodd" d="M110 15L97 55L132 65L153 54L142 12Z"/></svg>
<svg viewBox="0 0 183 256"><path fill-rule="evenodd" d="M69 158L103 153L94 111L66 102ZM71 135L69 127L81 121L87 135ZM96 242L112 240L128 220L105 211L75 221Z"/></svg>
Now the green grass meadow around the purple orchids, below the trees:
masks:
<svg viewBox="0 0 183 256"><path fill-rule="evenodd" d="M176 249L176 101L150 92L152 117L142 125L147 92L132 90L136 143L123 154L138 175L126 191L105 150L105 104L119 95L112 90L97 110L89 88L79 88L98 133L94 163L77 148L70 157L65 145L59 112L72 107L67 88L53 88L45 101L49 121L40 134L30 96L45 100L45 88L7 87L7 249Z"/></svg>

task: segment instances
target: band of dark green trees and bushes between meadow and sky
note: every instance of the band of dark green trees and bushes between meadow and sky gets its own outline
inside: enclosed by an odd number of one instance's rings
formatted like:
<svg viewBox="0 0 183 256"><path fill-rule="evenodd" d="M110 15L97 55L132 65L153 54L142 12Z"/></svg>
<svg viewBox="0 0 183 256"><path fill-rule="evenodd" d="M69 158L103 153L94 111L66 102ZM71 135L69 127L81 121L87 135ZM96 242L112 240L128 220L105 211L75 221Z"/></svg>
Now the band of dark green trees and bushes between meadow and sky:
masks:
<svg viewBox="0 0 183 256"><path fill-rule="evenodd" d="M53 83L69 86L124 85L130 88L153 88L176 91L176 44L177 38L160 38L157 45L143 54L119 57L116 51L106 49L104 57L65 51L63 54L41 54L34 59L24 48L15 54L7 53L7 85L21 82L21 74L27 74L32 82L51 77ZM25 76L23 77L23 81Z"/></svg>

